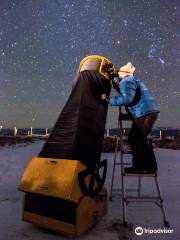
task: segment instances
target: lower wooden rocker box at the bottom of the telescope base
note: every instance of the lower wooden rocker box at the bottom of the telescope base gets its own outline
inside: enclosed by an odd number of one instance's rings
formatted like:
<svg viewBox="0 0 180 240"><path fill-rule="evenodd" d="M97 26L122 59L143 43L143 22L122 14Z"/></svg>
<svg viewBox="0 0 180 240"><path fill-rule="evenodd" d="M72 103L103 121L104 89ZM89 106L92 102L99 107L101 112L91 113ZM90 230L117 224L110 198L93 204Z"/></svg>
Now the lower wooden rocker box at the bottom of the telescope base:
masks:
<svg viewBox="0 0 180 240"><path fill-rule="evenodd" d="M92 228L107 213L107 191L104 188L96 198L83 196L75 208L74 223L65 220L55 219L43 216L40 213L26 209L26 201L28 201L28 193L24 199L23 221L36 224L40 227L53 230L62 234L77 236ZM43 204L43 202L42 202ZM44 209L46 211L46 209Z"/></svg>

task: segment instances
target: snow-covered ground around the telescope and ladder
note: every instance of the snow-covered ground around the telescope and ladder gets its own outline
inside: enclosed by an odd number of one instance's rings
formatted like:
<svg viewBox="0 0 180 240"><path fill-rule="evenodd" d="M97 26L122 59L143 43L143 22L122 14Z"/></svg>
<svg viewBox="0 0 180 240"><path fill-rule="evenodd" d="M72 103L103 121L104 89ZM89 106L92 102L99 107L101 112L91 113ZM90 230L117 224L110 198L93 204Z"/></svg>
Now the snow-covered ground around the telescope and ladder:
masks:
<svg viewBox="0 0 180 240"><path fill-rule="evenodd" d="M65 240L66 236L52 233L22 222L23 193L17 190L20 177L28 160L37 156L43 142L29 145L0 148L0 240ZM159 166L159 182L164 197L167 216L173 229L172 234L143 234L137 236L137 226L148 229L164 229L160 208L153 203L131 203L127 206L129 227L122 226L121 197L116 194L108 202L108 214L79 240L128 240L128 239L180 239L180 150L155 150ZM112 176L113 154L103 153L102 159L108 159L106 187L109 191ZM120 186L120 169L116 171L116 186ZM155 194L153 179L143 180L143 192ZM135 178L126 182L127 186L137 184ZM72 238L71 238L72 239Z"/></svg>

